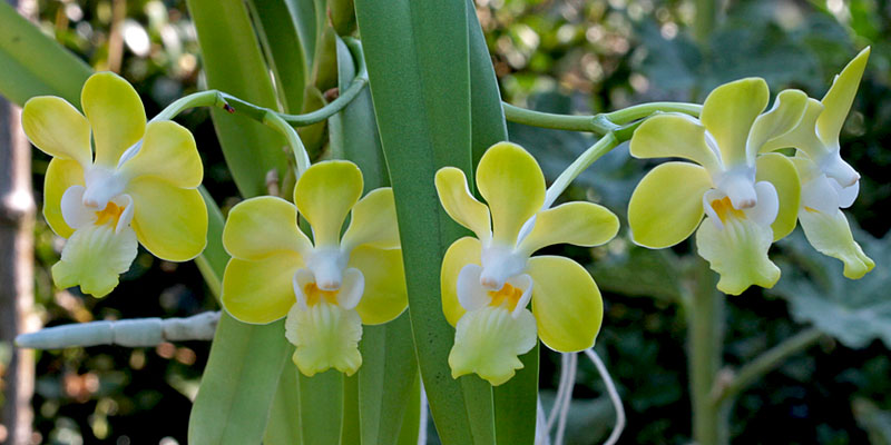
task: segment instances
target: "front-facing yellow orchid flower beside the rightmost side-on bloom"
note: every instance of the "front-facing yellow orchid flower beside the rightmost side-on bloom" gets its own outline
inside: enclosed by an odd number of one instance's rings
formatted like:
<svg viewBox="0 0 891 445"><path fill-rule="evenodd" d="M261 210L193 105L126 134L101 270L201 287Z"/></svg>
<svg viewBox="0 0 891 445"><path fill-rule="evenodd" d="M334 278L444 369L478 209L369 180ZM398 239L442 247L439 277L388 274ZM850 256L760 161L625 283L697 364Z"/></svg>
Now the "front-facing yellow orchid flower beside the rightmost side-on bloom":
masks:
<svg viewBox="0 0 891 445"><path fill-rule="evenodd" d="M767 249L795 228L795 167L782 155L757 154L767 140L799 123L807 97L783 91L762 113L768 95L760 78L723 85L705 99L698 120L656 116L642 123L630 141L637 158L696 162L665 162L644 177L628 204L634 241L669 247L699 227L699 255L721 275L718 289L732 295L752 285L770 288L780 279ZM707 216L699 225L703 215Z"/></svg>

